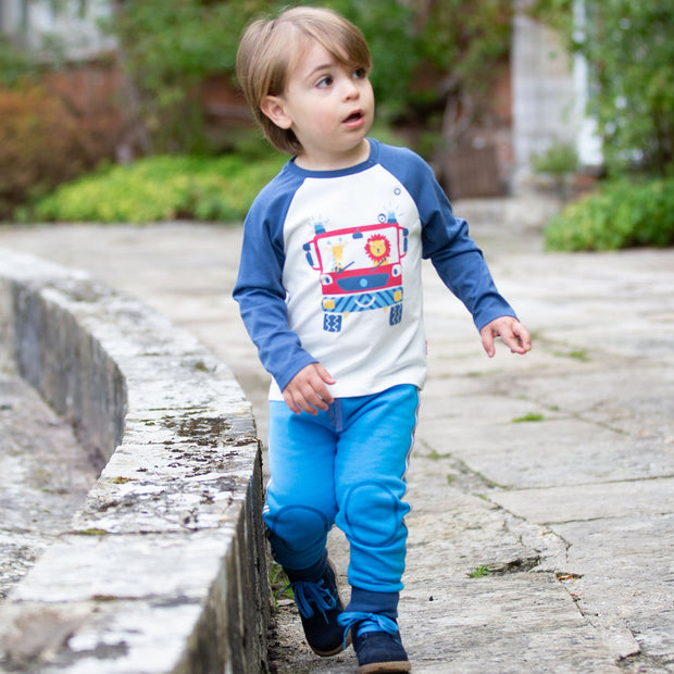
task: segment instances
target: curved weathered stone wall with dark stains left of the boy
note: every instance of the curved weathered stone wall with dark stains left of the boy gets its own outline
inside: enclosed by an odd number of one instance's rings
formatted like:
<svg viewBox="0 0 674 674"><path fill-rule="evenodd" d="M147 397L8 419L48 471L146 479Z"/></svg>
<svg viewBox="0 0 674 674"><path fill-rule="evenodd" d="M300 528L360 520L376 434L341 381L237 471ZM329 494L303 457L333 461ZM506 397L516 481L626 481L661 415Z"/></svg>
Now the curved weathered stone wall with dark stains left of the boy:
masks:
<svg viewBox="0 0 674 674"><path fill-rule="evenodd" d="M230 372L140 302L3 250L0 328L102 467L0 606L3 671L264 672L260 448Z"/></svg>

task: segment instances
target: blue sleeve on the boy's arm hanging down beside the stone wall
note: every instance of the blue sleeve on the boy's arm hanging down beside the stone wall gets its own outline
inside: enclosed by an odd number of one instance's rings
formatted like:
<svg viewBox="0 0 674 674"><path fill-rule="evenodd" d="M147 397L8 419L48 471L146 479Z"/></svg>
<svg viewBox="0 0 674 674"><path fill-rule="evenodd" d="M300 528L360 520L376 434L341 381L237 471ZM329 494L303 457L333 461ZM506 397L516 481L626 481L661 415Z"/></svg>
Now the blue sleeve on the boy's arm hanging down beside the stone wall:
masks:
<svg viewBox="0 0 674 674"><path fill-rule="evenodd" d="M288 327L283 222L290 197L269 200L263 192L244 224L244 245L233 297L260 361L283 390L290 379L316 359L307 352Z"/></svg>

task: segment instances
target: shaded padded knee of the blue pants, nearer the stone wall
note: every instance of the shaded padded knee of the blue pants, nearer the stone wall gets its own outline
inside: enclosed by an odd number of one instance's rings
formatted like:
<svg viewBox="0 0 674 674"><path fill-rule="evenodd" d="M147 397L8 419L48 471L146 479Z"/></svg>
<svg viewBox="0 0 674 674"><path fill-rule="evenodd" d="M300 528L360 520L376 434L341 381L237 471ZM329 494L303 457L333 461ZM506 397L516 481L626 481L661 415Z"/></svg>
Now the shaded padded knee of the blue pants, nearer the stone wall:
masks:
<svg viewBox="0 0 674 674"><path fill-rule="evenodd" d="M264 523L274 556L284 565L292 565L289 560L298 554L321 551L333 526L330 517L308 506L286 506L275 512L267 509Z"/></svg>

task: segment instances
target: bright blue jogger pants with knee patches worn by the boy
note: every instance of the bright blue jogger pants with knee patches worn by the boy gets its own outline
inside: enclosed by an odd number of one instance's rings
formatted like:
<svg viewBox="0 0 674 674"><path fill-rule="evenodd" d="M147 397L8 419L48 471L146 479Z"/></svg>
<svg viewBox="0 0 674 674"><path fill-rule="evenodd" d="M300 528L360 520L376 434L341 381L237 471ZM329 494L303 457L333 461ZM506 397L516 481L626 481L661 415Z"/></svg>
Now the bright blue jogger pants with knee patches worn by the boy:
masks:
<svg viewBox="0 0 674 674"><path fill-rule="evenodd" d="M294 414L270 403L270 473L264 521L276 561L320 565L333 524L350 544L349 583L402 589L410 507L403 502L419 390L396 386L340 398L326 412Z"/></svg>

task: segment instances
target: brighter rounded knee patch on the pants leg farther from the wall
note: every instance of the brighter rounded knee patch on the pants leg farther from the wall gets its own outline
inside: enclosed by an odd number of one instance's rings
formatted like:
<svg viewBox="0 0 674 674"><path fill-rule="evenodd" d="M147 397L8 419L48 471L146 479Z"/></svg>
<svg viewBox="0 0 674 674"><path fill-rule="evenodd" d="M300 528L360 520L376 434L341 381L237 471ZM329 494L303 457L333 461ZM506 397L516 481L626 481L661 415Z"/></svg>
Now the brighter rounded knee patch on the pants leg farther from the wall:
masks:
<svg viewBox="0 0 674 674"><path fill-rule="evenodd" d="M338 524L347 537L366 548L404 546L404 503L402 480L363 480L352 485L341 502Z"/></svg>

